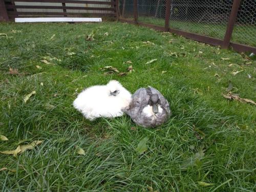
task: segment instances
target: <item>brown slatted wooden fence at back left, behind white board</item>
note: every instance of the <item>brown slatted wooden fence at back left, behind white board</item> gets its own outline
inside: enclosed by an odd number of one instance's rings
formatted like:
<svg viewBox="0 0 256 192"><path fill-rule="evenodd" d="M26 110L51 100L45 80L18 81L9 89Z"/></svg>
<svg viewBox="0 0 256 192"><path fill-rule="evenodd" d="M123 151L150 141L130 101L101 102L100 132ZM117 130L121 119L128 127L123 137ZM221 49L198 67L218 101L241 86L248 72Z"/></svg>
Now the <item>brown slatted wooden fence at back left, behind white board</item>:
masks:
<svg viewBox="0 0 256 192"><path fill-rule="evenodd" d="M0 21L17 17L117 17L118 0L0 0Z"/></svg>

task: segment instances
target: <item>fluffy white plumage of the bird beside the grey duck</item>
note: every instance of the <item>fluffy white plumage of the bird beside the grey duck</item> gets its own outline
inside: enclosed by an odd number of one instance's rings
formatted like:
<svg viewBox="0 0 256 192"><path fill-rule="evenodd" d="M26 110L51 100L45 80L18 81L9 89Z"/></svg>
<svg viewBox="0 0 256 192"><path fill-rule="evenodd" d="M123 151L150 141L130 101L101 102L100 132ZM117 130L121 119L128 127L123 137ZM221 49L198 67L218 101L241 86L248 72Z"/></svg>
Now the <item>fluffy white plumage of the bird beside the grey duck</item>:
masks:
<svg viewBox="0 0 256 192"><path fill-rule="evenodd" d="M111 96L110 93L118 90L119 94ZM116 81L111 80L105 86L93 86L83 90L74 100L74 107L84 117L94 120L98 117L122 116L123 108L131 102L132 95Z"/></svg>

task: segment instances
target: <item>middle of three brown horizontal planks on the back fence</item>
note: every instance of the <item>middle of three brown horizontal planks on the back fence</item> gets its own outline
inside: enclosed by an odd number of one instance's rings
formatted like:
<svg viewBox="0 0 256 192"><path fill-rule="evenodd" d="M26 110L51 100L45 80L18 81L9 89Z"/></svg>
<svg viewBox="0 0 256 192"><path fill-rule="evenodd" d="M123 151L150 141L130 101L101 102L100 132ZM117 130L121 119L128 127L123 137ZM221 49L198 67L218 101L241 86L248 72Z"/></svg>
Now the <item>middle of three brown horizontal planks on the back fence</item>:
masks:
<svg viewBox="0 0 256 192"><path fill-rule="evenodd" d="M27 6L27 5L7 5L7 9L72 9L72 10L99 10L99 11L115 11L115 8L103 7L68 7L68 6Z"/></svg>

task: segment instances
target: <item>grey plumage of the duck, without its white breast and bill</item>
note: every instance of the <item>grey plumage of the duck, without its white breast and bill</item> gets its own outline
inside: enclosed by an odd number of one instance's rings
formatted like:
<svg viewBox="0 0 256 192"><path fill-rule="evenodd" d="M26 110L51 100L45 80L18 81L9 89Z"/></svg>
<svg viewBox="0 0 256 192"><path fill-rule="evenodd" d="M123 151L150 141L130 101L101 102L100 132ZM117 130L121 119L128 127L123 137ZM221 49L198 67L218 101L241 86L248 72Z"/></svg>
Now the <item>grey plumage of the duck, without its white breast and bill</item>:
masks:
<svg viewBox="0 0 256 192"><path fill-rule="evenodd" d="M156 114L156 118L147 117L142 111L149 103L156 102L155 96L151 98L152 94L157 94L158 104L160 104L163 111ZM168 101L163 97L163 95L156 89L152 87L140 88L132 96L132 101L129 106L123 109L123 112L129 115L132 120L143 127L156 127L168 120L171 115L170 107Z"/></svg>

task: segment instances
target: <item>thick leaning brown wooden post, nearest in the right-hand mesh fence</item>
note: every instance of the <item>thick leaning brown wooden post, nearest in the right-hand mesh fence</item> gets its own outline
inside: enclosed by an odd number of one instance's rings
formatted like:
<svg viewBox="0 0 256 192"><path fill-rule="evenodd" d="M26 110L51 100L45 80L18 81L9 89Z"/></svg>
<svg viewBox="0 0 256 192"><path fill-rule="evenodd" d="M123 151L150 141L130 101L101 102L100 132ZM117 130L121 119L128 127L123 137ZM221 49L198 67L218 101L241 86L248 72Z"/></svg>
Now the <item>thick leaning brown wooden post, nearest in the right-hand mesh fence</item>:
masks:
<svg viewBox="0 0 256 192"><path fill-rule="evenodd" d="M223 40L223 44L221 46L222 49L228 49L230 39L232 36L234 24L236 23L237 15L238 15L238 9L240 6L241 0L233 0L232 9L229 15L228 25L225 33L225 37Z"/></svg>

